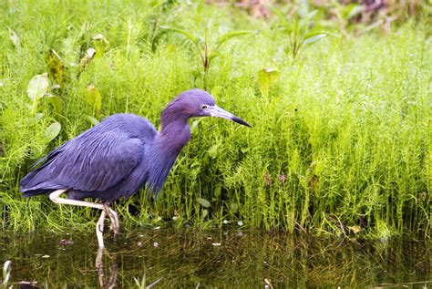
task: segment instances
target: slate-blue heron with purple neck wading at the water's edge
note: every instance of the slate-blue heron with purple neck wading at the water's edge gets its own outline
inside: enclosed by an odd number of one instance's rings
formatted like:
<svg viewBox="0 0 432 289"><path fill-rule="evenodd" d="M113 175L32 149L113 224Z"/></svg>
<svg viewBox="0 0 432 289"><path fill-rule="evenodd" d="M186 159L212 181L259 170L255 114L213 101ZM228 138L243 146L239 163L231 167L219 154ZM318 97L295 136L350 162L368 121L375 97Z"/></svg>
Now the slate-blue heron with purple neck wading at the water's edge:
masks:
<svg viewBox="0 0 432 289"><path fill-rule="evenodd" d="M155 194L162 189L180 150L190 140L189 119L219 117L246 127L246 121L215 104L206 91L180 93L160 114L159 131L148 119L118 113L70 139L37 160L19 183L23 197L48 194L58 204L101 210L96 225L99 248L104 248L104 222L119 232L113 201L128 199L141 188ZM61 197L66 193L67 198ZM98 199L86 201L85 199Z"/></svg>

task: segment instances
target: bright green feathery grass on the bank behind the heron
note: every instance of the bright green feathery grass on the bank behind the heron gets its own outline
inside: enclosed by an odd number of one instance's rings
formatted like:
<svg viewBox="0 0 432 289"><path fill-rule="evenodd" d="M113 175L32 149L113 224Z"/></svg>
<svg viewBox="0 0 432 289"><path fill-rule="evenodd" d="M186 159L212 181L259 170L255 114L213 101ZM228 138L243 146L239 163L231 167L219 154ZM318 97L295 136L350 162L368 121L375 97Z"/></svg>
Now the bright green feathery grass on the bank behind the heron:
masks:
<svg viewBox="0 0 432 289"><path fill-rule="evenodd" d="M129 229L170 225L165 221L178 216L177 227L241 220L246 227L339 234L362 222L367 236L430 235L432 46L430 26L421 21L388 35L328 36L293 61L283 51L287 36L269 25L274 19L252 19L232 8L46 0L4 3L0 14L4 230L94 229L98 212L60 208L44 196L22 199L18 191L31 163L90 128L87 116L97 115L85 90L93 84L102 96L99 120L131 112L158 127L170 99L198 87L252 124L192 120L192 139L155 204L145 193L118 202L120 222ZM160 26L203 34L209 21L212 38L229 30L258 33L221 46L204 77L187 38ZM109 47L77 77L97 34ZM67 67L65 88L56 92L63 111L56 114L41 99L34 116L26 88L48 72L50 48ZM267 97L258 82L264 67L280 72ZM45 130L54 121L62 129L49 141Z"/></svg>

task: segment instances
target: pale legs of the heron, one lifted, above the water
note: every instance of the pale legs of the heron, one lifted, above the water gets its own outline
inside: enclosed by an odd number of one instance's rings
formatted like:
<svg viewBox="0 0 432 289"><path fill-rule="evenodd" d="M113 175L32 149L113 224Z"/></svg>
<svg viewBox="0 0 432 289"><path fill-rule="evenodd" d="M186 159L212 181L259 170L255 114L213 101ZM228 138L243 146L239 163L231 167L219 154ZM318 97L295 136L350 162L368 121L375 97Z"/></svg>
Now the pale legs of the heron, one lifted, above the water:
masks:
<svg viewBox="0 0 432 289"><path fill-rule="evenodd" d="M77 201L77 200L69 200L69 199L65 199L65 198L60 198L60 195L66 191L67 190L53 191L49 194L49 199L51 201L54 201L54 202L60 203L60 204L83 206L83 207L89 207L89 208L95 208L95 209L102 210L102 213L100 214L99 221L96 225L96 234L98 235L99 248L103 248L104 247L103 231L104 231L105 217L108 214L108 217L111 220L111 230L114 233L118 233L120 226L118 224L117 212L112 210L108 204L102 204L102 203L91 202L91 201Z"/></svg>

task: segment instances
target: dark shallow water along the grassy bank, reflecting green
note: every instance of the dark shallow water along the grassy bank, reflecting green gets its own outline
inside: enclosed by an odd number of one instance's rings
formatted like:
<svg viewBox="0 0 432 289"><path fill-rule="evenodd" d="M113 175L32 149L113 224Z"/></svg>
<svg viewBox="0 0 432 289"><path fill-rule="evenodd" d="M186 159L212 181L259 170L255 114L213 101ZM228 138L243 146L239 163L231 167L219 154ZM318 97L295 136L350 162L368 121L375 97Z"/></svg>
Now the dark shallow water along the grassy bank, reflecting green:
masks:
<svg viewBox="0 0 432 289"><path fill-rule="evenodd" d="M107 236L98 253L96 234L0 233L15 287L432 288L431 243L145 230Z"/></svg>

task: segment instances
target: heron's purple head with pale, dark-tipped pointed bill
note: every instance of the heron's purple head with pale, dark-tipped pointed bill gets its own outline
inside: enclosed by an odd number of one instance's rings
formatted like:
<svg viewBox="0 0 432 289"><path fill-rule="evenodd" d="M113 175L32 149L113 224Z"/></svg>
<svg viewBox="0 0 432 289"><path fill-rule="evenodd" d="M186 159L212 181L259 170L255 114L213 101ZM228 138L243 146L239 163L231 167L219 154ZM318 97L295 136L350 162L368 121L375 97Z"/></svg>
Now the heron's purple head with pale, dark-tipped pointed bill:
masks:
<svg viewBox="0 0 432 289"><path fill-rule="evenodd" d="M231 112L218 107L214 98L206 91L201 89L190 89L182 92L170 103L169 108L177 108L181 113L193 117L217 117L230 119L246 127L251 127L249 123L233 115Z"/></svg>

